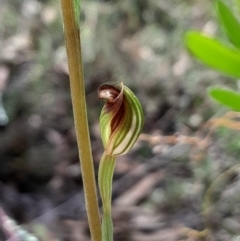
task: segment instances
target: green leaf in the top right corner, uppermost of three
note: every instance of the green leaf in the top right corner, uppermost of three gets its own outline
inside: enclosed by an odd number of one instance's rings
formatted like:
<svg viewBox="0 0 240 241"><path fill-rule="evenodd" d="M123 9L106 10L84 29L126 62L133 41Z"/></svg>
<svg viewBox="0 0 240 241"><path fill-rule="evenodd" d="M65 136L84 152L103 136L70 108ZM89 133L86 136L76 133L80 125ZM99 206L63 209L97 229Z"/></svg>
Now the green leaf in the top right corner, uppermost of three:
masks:
<svg viewBox="0 0 240 241"><path fill-rule="evenodd" d="M217 2L217 12L229 40L240 48L240 24L231 10L222 2Z"/></svg>

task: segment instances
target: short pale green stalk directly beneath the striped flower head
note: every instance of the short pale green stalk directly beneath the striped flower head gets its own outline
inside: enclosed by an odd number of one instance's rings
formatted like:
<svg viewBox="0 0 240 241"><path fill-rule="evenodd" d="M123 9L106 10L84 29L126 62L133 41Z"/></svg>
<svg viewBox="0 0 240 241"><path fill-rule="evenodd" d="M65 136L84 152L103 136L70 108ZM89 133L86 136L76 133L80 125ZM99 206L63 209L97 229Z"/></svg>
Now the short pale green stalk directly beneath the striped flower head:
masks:
<svg viewBox="0 0 240 241"><path fill-rule="evenodd" d="M113 223L111 218L112 179L116 157L103 153L98 174L98 185L103 205L102 241L113 240Z"/></svg>

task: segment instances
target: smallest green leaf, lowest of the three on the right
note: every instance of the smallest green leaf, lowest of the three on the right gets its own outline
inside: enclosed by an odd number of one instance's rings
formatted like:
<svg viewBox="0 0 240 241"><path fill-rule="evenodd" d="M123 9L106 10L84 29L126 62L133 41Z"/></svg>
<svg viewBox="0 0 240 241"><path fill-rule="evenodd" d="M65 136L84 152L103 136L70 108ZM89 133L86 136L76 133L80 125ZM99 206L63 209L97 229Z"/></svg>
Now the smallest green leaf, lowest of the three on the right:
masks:
<svg viewBox="0 0 240 241"><path fill-rule="evenodd" d="M225 105L235 111L240 111L240 93L220 87L211 87L208 90L209 95L222 105Z"/></svg>

